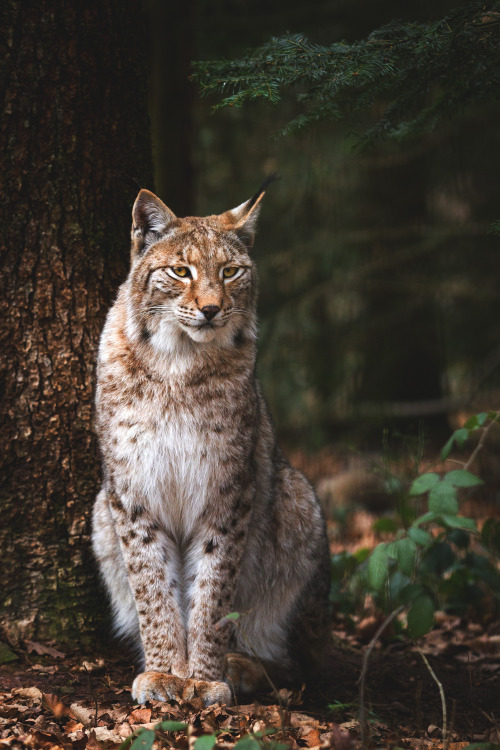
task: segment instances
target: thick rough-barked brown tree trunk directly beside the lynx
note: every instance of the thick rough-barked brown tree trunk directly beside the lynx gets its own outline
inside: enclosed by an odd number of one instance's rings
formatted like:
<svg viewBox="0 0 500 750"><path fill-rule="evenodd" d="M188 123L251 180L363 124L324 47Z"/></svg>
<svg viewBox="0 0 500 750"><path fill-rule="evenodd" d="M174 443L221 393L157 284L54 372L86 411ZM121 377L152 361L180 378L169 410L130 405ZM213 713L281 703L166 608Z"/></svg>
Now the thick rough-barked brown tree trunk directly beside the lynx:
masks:
<svg viewBox="0 0 500 750"><path fill-rule="evenodd" d="M84 644L105 607L89 547L100 329L152 185L140 0L5 0L0 222L0 626Z"/></svg>

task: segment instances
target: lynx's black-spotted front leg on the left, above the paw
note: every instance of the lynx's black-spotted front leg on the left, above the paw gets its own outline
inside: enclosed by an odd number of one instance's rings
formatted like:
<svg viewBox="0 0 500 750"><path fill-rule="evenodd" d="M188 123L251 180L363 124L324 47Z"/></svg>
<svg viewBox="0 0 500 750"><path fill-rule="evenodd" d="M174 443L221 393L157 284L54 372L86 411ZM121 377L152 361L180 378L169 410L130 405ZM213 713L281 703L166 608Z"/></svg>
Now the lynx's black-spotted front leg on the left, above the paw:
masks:
<svg viewBox="0 0 500 750"><path fill-rule="evenodd" d="M110 509L135 598L146 670L188 677L174 560L165 560L160 527L143 506L126 498L112 495Z"/></svg>

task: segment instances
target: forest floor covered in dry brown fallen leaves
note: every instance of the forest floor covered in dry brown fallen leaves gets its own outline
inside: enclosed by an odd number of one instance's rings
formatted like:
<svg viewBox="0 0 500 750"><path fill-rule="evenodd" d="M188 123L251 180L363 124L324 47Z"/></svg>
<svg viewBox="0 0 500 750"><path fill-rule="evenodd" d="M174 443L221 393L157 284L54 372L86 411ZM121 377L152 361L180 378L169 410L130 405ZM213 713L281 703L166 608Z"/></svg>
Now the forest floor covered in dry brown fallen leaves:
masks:
<svg viewBox="0 0 500 750"><path fill-rule="evenodd" d="M338 496L349 502L352 480L347 475L352 464L332 455L315 461L294 458L320 489L322 477L334 476ZM354 484L359 490L358 470ZM321 492L328 494L325 486ZM496 499L492 502L491 491L475 497L474 507L466 512L479 520L498 518ZM333 553L371 548L379 541L372 525L384 512L384 502L377 492L372 500L376 507L369 507L370 502L354 507L347 522L342 513L335 520L330 508ZM470 743L500 749L498 618L487 611L467 617L438 612L435 627L419 639L418 646L394 632L372 641L382 621L383 615L369 608L349 618L334 616L331 663L324 665L321 679L300 689L282 689L279 698L270 688L254 696L253 703L230 708L204 708L197 697L134 705L133 662L118 646L106 653L85 654L58 644L26 641L16 650L16 660L0 666L0 750L117 750L127 738L129 743L135 740L133 750L150 750L154 742L156 747L182 750L212 750L215 743L215 750L232 750L235 745L236 750L462 750ZM372 651L366 661L369 646ZM366 683L361 705L363 664ZM441 683L442 695L429 667ZM363 732L360 708L366 717ZM172 724L155 729L165 721L186 726L177 731ZM206 739L200 741L202 736Z"/></svg>

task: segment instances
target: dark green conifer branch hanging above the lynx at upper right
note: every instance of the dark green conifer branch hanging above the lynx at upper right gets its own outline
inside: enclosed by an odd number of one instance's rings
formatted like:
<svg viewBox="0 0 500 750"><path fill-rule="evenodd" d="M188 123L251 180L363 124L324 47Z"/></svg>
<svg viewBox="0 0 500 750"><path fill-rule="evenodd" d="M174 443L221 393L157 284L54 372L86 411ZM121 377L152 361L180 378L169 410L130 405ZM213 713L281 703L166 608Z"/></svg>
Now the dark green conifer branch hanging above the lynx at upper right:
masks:
<svg viewBox="0 0 500 750"><path fill-rule="evenodd" d="M240 60L193 63L214 109L295 92L288 135L325 119L384 111L363 135L403 138L432 130L472 102L500 98L500 2L472 2L428 24L394 22L362 41L322 46L303 34L273 37Z"/></svg>

